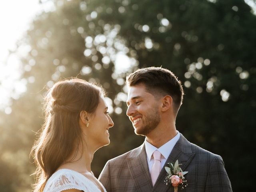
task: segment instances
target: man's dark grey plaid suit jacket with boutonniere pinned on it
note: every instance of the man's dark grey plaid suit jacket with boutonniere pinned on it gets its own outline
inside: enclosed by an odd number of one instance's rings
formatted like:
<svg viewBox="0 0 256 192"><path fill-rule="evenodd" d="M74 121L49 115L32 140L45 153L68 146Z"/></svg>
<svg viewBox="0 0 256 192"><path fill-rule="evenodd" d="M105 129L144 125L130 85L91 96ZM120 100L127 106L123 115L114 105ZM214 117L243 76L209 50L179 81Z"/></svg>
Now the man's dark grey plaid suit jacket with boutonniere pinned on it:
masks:
<svg viewBox="0 0 256 192"><path fill-rule="evenodd" d="M182 134L172 149L166 163L178 159L183 171L188 171L188 186L182 192L232 192L230 180L222 158L186 140ZM164 179L163 168L152 186L145 144L121 156L109 160L99 180L107 192L174 192Z"/></svg>

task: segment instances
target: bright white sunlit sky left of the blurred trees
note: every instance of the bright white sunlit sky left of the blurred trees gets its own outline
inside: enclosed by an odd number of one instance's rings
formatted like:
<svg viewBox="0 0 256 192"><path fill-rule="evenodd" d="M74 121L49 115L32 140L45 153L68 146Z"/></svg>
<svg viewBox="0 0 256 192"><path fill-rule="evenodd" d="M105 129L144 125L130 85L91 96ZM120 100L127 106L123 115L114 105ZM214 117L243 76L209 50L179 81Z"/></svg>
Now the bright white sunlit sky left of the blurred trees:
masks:
<svg viewBox="0 0 256 192"><path fill-rule="evenodd" d="M30 70L34 64L31 62L24 69L21 69L19 58L14 54L9 55L9 53L16 50L16 42L22 38L33 17L39 11L38 1L34 0L0 2L2 27L0 36L0 110L6 114L12 112L11 100L18 99L19 95L26 91L27 82L20 80L21 72ZM25 56L30 50L30 46L18 48L18 56Z"/></svg>

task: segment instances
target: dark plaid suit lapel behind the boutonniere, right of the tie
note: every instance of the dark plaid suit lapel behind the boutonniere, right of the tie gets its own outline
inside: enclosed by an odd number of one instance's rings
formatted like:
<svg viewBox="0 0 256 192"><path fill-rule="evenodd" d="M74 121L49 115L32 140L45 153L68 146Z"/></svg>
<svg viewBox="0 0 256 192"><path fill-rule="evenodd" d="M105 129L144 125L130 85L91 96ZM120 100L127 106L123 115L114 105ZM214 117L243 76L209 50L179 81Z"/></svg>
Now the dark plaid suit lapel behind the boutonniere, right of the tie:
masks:
<svg viewBox="0 0 256 192"><path fill-rule="evenodd" d="M167 166L168 162L175 162L178 159L179 164L182 164L180 165L180 168L183 171L186 171L186 167L188 166L188 164L190 163L194 155L195 154L192 153L190 142L188 142L188 140L186 140L186 138L184 138L184 136L180 134L180 139L172 149L172 152L167 158L164 167ZM164 167L162 168L156 180L156 184L154 185L153 191L166 192L170 189L170 187L172 187L170 184L166 185L166 183L164 183L164 180L167 174ZM174 191L173 187L170 191Z"/></svg>

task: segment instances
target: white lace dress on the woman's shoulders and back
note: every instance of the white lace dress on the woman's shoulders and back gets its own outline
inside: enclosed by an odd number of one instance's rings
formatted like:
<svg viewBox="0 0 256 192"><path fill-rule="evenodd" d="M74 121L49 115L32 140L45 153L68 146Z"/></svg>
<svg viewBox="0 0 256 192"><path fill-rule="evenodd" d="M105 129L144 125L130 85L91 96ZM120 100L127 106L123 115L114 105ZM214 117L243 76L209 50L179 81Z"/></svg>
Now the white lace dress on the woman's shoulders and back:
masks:
<svg viewBox="0 0 256 192"><path fill-rule="evenodd" d="M104 186L102 184L101 186L104 192L106 192ZM101 192L91 180L70 169L60 169L52 174L46 182L44 192L61 192L67 189L78 189L84 192Z"/></svg>

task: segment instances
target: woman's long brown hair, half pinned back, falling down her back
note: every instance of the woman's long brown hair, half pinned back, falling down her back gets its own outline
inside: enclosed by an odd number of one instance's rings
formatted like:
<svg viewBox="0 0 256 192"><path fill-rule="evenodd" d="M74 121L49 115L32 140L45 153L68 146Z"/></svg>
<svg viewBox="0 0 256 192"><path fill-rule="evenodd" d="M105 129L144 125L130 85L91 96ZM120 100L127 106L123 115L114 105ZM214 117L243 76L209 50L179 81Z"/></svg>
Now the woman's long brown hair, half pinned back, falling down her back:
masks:
<svg viewBox="0 0 256 192"><path fill-rule="evenodd" d="M37 166L34 192L42 192L50 176L82 144L80 112L94 113L103 90L81 79L63 80L44 99L45 122L31 154ZM75 157L73 157L75 158Z"/></svg>

